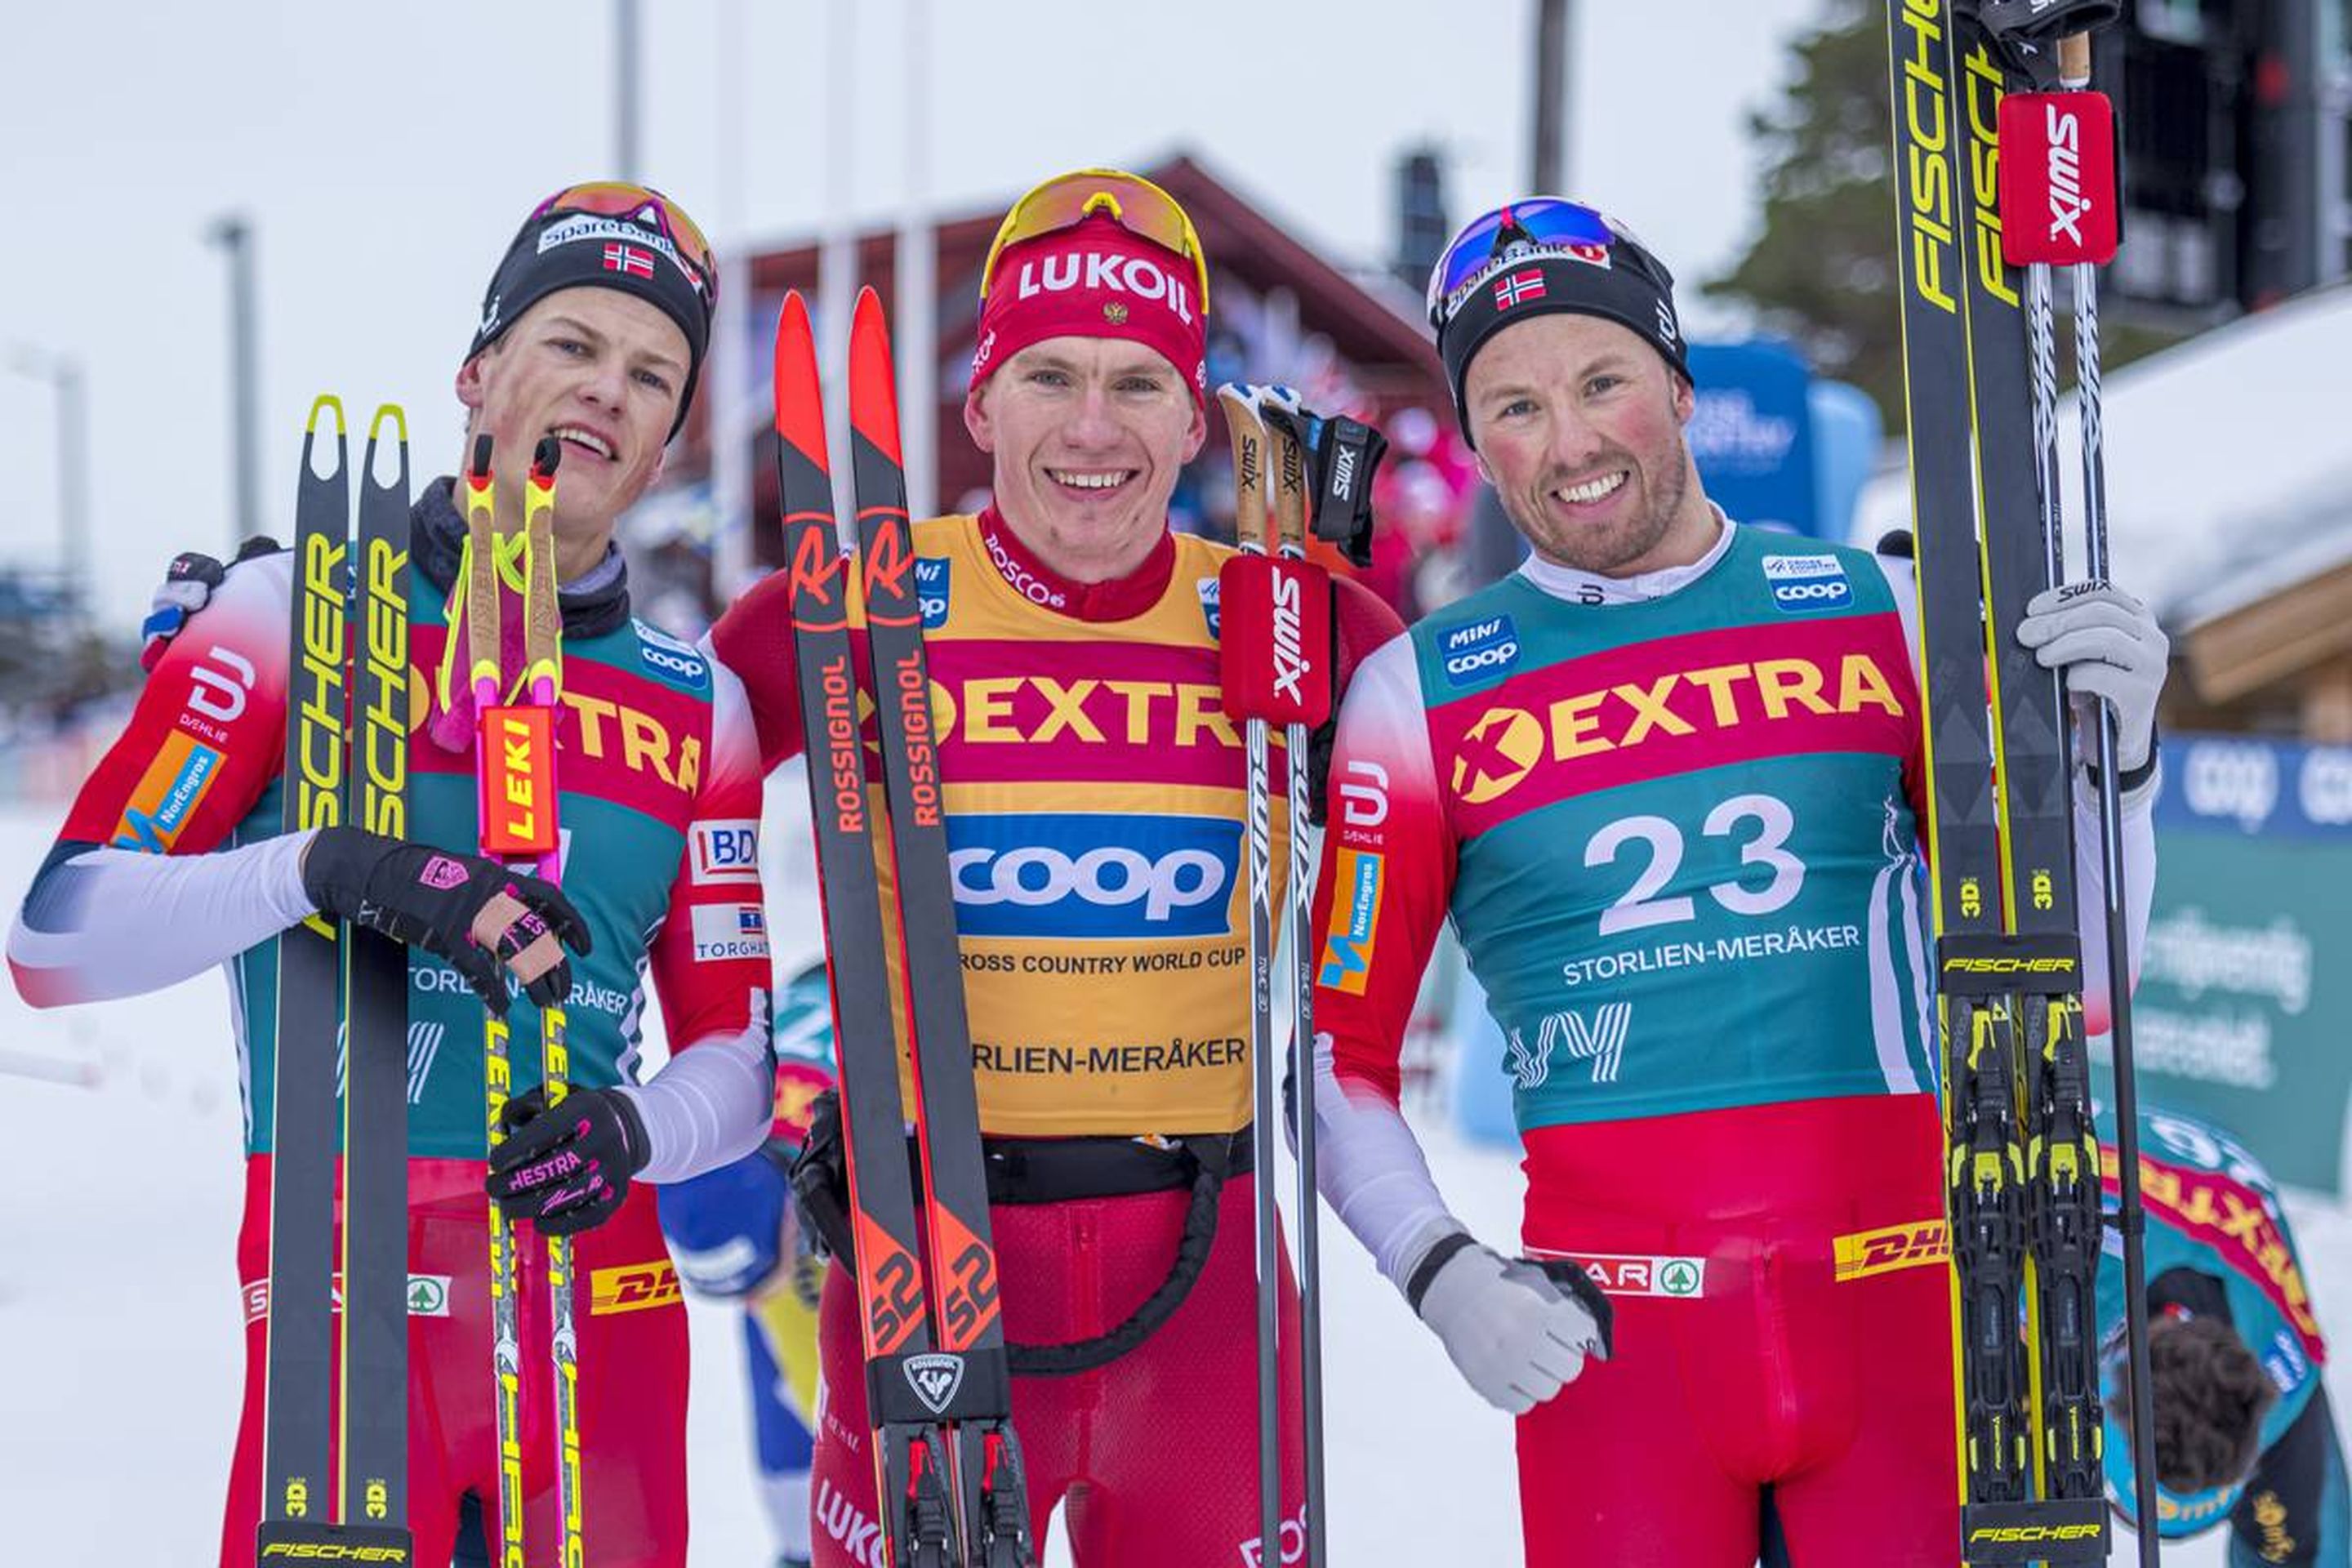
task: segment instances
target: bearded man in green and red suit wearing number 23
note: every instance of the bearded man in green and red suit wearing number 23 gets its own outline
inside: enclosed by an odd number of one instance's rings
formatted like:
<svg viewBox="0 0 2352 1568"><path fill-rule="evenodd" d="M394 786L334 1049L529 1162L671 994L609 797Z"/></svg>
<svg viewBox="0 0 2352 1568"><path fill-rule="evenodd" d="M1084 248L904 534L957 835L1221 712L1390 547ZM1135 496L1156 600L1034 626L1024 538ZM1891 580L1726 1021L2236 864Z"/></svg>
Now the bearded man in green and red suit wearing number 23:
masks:
<svg viewBox="0 0 2352 1568"><path fill-rule="evenodd" d="M1943 1251L1860 1262L1943 1222L1910 564L1708 501L1672 277L1602 214L1477 219L1430 320L1534 552L1367 658L1341 710L1322 1192L1519 1418L1534 1568L1748 1568L1766 1530L1809 1568L1947 1566ZM2164 637L2107 585L2018 635L2117 710L2145 929ZM1526 1258L1472 1241L1397 1107L1446 919L1505 1039ZM2105 1027L2096 957L2084 997Z"/></svg>

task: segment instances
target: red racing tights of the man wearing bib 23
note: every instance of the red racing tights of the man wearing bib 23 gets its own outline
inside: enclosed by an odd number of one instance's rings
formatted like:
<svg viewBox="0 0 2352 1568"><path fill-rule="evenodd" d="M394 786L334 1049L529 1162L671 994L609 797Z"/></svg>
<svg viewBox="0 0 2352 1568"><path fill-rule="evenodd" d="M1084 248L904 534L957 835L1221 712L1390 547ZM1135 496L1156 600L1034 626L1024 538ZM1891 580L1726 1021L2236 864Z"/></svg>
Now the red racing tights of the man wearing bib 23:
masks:
<svg viewBox="0 0 2352 1568"><path fill-rule="evenodd" d="M1959 1561L1933 1095L1536 1128L1529 1253L1609 1291L1616 1354L1519 1418L1529 1568Z"/></svg>

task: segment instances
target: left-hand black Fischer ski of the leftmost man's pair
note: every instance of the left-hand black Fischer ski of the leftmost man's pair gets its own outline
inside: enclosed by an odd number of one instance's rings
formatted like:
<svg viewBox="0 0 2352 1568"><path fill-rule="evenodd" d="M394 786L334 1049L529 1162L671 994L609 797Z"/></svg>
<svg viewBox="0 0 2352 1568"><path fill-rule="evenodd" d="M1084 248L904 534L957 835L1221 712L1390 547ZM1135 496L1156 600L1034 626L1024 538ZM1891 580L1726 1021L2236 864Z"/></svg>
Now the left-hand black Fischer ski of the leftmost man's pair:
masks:
<svg viewBox="0 0 2352 1568"><path fill-rule="evenodd" d="M329 423L332 421L332 423ZM334 468L320 473L332 430ZM350 461L343 404L320 397L294 501L285 832L343 820L343 635ZM278 1051L270 1074L270 1295L261 1418L261 1544L270 1523L325 1523L334 1380L334 1063L341 922L278 936Z"/></svg>

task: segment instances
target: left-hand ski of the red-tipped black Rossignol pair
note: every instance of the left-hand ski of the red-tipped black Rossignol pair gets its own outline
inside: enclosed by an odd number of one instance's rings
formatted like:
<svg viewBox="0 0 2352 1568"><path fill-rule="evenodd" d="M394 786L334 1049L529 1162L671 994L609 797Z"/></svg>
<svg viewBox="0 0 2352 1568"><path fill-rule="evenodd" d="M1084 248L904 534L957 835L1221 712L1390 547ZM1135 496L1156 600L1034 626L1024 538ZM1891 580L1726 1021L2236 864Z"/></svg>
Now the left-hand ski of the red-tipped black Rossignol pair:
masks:
<svg viewBox="0 0 2352 1568"><path fill-rule="evenodd" d="M849 1164L854 1258L844 1262L858 1286L882 1530L891 1563L946 1568L962 1561L950 1540L950 1460L936 1410L924 1410L917 1396L943 1387L941 1375L950 1366L931 1335L915 1182L903 1157L906 1112L898 1098L898 1041L875 867L875 797L866 783L858 672L849 637L849 557L842 555L833 475L826 468L816 339L797 289L786 294L776 322L774 393L793 663L809 759L809 813Z"/></svg>

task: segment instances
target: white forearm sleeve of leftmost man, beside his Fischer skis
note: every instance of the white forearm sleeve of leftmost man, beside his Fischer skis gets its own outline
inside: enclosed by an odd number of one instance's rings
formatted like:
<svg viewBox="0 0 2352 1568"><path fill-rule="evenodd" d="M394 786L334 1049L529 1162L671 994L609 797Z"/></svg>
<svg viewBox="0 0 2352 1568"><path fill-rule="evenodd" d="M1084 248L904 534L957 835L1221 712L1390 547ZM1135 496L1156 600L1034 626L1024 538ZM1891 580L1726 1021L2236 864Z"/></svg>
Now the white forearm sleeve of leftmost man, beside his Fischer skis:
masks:
<svg viewBox="0 0 2352 1568"><path fill-rule="evenodd" d="M313 837L205 856L99 846L47 865L7 936L16 990L33 1006L111 1001L226 964L318 912L301 886Z"/></svg>

